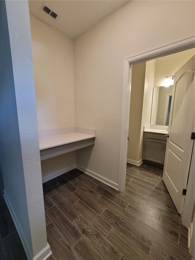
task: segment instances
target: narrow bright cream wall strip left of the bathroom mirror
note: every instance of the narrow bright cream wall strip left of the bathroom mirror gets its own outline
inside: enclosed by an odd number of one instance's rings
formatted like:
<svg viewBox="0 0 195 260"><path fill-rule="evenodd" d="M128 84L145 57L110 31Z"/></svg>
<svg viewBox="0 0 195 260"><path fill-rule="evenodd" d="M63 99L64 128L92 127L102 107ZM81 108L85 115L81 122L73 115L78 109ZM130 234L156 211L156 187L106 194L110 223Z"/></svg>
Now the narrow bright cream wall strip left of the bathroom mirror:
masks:
<svg viewBox="0 0 195 260"><path fill-rule="evenodd" d="M146 62L146 74L145 74L145 82L144 82L144 100L143 100L141 131L140 131L139 160L141 160L141 158L142 158L144 126L150 125L150 120L151 120L155 64L156 64L156 60L151 60L151 61Z"/></svg>

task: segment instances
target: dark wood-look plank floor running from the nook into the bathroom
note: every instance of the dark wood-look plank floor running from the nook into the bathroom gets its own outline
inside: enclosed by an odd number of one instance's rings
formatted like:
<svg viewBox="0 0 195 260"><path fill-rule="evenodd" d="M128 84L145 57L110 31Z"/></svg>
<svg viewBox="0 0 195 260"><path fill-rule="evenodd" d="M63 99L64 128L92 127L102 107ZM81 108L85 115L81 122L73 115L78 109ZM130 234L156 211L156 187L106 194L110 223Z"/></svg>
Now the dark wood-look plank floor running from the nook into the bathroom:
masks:
<svg viewBox="0 0 195 260"><path fill-rule="evenodd" d="M43 184L50 260L190 260L162 170L128 165L123 192L75 169Z"/></svg>

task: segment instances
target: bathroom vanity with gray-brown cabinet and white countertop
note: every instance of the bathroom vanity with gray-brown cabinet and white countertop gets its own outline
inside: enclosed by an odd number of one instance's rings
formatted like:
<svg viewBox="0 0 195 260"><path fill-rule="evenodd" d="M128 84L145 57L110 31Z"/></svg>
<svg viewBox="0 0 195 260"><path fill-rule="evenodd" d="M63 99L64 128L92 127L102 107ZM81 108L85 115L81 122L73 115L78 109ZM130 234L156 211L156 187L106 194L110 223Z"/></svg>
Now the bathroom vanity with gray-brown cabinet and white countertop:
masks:
<svg viewBox="0 0 195 260"><path fill-rule="evenodd" d="M157 129L155 129L157 127ZM158 129L160 128L160 129ZM142 160L163 168L166 150L168 126L144 127Z"/></svg>

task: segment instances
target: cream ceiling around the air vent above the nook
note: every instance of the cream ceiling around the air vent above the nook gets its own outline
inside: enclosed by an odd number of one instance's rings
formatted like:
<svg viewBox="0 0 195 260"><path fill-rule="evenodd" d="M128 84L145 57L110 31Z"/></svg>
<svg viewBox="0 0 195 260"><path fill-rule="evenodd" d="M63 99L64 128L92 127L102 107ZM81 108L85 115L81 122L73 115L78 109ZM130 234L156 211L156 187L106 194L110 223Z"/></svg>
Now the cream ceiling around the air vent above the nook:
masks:
<svg viewBox="0 0 195 260"><path fill-rule="evenodd" d="M44 2L29 0L28 2L31 14L69 38L76 39L129 0L45 0ZM43 3L58 14L57 19L42 10Z"/></svg>

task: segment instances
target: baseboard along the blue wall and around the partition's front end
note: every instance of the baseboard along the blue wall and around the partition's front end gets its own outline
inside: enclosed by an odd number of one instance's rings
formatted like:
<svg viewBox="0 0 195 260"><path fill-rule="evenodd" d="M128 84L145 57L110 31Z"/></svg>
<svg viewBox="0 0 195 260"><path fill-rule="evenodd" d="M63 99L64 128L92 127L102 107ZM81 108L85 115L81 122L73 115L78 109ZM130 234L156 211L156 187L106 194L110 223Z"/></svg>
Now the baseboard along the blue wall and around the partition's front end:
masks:
<svg viewBox="0 0 195 260"><path fill-rule="evenodd" d="M24 248L24 251L27 255L27 259L28 260L46 260L51 254L51 249L50 249L50 246L49 244L47 244L47 246L41 250L41 252L39 252L35 257L33 257L33 252L30 248L30 245L28 244L28 241L27 241L27 238L22 230L22 227L20 226L20 223L18 221L18 218L16 216L16 213L14 212L14 209L12 207L12 204L9 200L9 197L6 193L6 191L4 190L4 194L3 194L3 197L5 199L5 202L7 204L7 207L9 209L9 212L12 216L12 219L13 219L13 222L15 224L15 227L16 227L16 230L18 231L18 235L20 237L20 240L22 242L22 245L23 245L23 248Z"/></svg>

